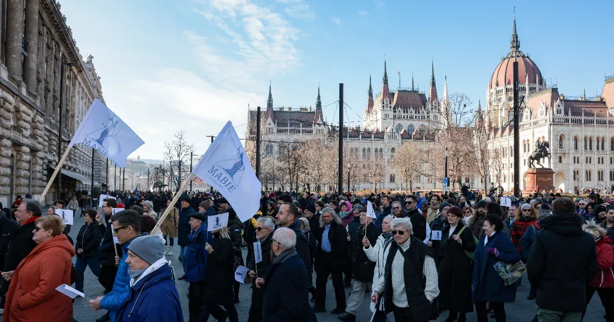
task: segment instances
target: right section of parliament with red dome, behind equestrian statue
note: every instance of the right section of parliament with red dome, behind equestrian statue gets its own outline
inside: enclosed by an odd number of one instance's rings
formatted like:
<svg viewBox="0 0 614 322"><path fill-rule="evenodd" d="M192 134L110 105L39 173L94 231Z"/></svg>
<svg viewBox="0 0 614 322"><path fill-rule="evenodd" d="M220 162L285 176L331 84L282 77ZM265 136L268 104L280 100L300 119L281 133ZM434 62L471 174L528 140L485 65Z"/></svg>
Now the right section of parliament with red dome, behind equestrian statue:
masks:
<svg viewBox="0 0 614 322"><path fill-rule="evenodd" d="M525 190L527 159L536 145L548 141L554 188L565 193L582 188L614 190L614 75L605 77L600 96L566 96L546 81L529 55L520 51L514 20L510 52L488 83L485 117L491 151L489 184L513 190L512 63L518 60L521 190ZM537 166L539 167L539 166Z"/></svg>

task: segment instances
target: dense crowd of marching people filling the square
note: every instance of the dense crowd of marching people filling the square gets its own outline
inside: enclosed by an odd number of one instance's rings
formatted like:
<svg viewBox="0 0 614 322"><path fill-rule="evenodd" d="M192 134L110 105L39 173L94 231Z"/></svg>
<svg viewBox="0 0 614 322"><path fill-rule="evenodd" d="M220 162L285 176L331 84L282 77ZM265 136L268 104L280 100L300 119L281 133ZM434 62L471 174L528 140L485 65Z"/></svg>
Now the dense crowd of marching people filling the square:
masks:
<svg viewBox="0 0 614 322"><path fill-rule="evenodd" d="M219 194L184 193L177 204L169 192L107 194L98 210L71 198L46 214L32 199L19 202L14 219L2 212L4 321L71 321L74 300L55 289L82 292L87 267L104 289L88 301L105 311L97 322L183 321L176 283L188 283L188 321L239 321L239 266L251 284L247 321L317 321L322 312L355 321L369 298L372 321L429 321L445 311L446 321L469 312L505 321L525 273L534 321L581 321L594 293L614 321L608 196L276 191L241 222ZM55 215L64 207L84 217L75 240ZM167 209L162 236L150 235ZM227 226L209 231L208 217L220 213ZM174 239L181 276L169 265ZM335 302L327 305L329 279Z"/></svg>

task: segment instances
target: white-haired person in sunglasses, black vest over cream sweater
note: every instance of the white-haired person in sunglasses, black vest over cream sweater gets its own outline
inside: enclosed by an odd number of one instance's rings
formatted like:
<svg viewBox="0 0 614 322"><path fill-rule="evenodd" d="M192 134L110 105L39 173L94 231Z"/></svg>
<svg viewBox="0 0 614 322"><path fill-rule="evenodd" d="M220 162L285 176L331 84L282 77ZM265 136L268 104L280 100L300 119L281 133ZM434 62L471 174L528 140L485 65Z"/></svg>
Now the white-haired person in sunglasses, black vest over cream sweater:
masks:
<svg viewBox="0 0 614 322"><path fill-rule="evenodd" d="M411 236L410 218L394 218L391 228L395 242L384 261L385 274L373 281L371 301L377 303L383 292L386 313L394 312L395 321L429 321L439 295L435 261L429 247Z"/></svg>

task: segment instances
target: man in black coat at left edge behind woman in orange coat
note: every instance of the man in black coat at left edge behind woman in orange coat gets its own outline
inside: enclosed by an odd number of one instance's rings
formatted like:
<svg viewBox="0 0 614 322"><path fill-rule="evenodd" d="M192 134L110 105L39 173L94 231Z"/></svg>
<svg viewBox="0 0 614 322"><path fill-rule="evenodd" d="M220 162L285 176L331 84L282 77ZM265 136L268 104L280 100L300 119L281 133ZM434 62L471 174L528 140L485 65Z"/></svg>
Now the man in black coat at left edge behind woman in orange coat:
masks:
<svg viewBox="0 0 614 322"><path fill-rule="evenodd" d="M7 237L6 253L4 258L4 269L2 269L2 299L0 306L4 307L4 295L9 290L9 280L15 274L15 269L21 263L21 260L26 258L29 253L36 247L36 242L32 240L34 237L34 228L36 228L37 218L41 217L41 204L32 199L27 199L17 207L15 219L20 223L20 226L15 229L9 237Z"/></svg>

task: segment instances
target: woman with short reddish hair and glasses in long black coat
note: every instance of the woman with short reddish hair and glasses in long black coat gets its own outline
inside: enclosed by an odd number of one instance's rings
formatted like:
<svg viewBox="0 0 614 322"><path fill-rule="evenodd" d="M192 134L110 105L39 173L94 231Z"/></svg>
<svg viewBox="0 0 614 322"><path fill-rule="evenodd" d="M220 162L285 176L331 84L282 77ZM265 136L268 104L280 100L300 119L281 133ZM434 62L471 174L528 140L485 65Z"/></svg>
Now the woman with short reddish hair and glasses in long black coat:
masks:
<svg viewBox="0 0 614 322"><path fill-rule="evenodd" d="M449 310L446 322L467 321L465 314L473 312L471 301L472 260L465 251L475 250L475 241L467 225L461 220L461 209L448 210L448 224L441 231L439 263L439 304L441 310Z"/></svg>

